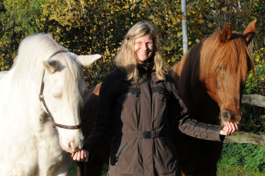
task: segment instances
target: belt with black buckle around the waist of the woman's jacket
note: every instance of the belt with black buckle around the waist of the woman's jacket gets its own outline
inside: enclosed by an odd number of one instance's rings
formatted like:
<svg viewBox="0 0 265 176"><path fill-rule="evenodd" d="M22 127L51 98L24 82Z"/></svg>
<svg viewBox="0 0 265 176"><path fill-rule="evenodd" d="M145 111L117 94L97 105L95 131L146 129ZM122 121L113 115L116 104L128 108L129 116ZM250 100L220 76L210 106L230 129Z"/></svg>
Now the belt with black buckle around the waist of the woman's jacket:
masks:
<svg viewBox="0 0 265 176"><path fill-rule="evenodd" d="M124 138L153 139L161 137L167 134L167 132L165 130L143 131L143 132L121 131L115 134L116 134L115 136L122 136Z"/></svg>

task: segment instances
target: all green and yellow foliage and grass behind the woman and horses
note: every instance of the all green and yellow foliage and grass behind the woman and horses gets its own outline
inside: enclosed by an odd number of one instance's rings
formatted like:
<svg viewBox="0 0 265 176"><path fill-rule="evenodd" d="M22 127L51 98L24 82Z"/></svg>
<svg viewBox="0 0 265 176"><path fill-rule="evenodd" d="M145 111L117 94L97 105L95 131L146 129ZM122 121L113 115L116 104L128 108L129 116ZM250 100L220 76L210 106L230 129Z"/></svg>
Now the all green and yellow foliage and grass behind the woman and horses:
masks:
<svg viewBox="0 0 265 176"><path fill-rule="evenodd" d="M249 45L255 74L251 71L248 75L244 94L265 96L264 9L264 0L187 0L189 47L227 23L232 23L233 31L243 32L257 19L257 34ZM88 87L93 87L114 69L113 58L123 36L138 21L154 23L165 69L169 69L183 55L184 18L181 0L0 0L0 71L11 68L24 37L44 32L77 54L103 56L83 70ZM265 125L265 108L243 105L242 110L242 124ZM265 127L240 126L240 130L262 134ZM225 144L218 174L254 175L245 174L249 170L264 173L264 150L252 145Z"/></svg>

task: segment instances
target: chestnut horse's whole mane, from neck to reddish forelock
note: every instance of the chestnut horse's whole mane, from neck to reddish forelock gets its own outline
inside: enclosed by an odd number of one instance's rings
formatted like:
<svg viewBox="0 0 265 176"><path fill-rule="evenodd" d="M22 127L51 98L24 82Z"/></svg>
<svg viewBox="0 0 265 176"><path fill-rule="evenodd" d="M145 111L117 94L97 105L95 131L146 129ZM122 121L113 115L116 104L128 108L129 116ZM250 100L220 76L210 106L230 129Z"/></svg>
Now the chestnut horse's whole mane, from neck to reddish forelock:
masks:
<svg viewBox="0 0 265 176"><path fill-rule="evenodd" d="M243 34L233 32L229 42L220 43L220 32L193 46L177 63L173 70L185 87L196 86L209 73L218 69L238 72L243 82L249 70L254 70L254 62L249 53ZM200 72L200 75L199 75Z"/></svg>

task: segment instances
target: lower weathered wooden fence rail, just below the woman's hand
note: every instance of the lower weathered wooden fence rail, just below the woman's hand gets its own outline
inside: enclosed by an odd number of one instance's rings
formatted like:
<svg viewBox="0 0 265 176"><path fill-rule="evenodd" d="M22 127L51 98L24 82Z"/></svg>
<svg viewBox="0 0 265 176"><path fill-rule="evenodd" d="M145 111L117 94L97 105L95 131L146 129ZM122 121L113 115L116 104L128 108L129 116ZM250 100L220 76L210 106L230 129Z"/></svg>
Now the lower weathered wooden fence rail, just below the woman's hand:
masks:
<svg viewBox="0 0 265 176"><path fill-rule="evenodd" d="M255 135L252 133L238 131L231 136L226 136L224 143L251 143L254 145L265 145L265 135Z"/></svg>

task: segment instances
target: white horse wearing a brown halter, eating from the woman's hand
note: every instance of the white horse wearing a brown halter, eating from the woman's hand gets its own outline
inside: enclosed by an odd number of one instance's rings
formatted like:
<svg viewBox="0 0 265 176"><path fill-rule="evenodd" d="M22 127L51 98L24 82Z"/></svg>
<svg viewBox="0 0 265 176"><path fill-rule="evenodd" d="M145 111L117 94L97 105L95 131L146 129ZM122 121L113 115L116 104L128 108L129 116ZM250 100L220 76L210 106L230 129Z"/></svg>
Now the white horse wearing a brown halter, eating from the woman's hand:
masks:
<svg viewBox="0 0 265 176"><path fill-rule="evenodd" d="M77 56L51 35L22 40L12 69L0 78L0 176L67 175L71 153L84 141L80 68L99 58Z"/></svg>

